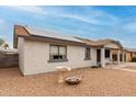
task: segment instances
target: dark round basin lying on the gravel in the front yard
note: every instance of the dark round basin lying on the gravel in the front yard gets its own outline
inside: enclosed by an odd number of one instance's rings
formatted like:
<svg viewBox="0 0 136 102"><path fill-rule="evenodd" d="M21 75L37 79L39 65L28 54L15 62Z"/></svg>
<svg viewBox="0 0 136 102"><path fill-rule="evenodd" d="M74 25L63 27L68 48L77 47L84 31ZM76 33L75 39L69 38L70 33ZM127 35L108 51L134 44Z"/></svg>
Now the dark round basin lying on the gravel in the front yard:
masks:
<svg viewBox="0 0 136 102"><path fill-rule="evenodd" d="M65 79L68 84L78 84L81 81L79 77L68 77Z"/></svg>

